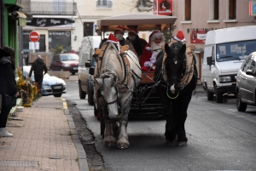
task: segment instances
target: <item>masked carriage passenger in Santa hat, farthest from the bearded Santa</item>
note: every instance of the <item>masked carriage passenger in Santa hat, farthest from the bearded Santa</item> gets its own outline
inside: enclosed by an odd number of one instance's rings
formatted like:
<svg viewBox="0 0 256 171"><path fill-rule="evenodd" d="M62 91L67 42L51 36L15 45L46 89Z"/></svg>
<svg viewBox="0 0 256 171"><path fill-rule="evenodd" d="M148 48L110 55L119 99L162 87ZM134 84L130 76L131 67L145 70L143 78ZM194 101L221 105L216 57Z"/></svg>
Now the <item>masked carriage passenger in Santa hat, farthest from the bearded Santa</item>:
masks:
<svg viewBox="0 0 256 171"><path fill-rule="evenodd" d="M121 46L128 45L129 49L136 54L136 51L133 48L131 41L126 40L125 37L124 37L125 27L117 26L115 28L115 30L113 31L113 34L114 34L114 37L116 37L119 40L119 43L120 43Z"/></svg>

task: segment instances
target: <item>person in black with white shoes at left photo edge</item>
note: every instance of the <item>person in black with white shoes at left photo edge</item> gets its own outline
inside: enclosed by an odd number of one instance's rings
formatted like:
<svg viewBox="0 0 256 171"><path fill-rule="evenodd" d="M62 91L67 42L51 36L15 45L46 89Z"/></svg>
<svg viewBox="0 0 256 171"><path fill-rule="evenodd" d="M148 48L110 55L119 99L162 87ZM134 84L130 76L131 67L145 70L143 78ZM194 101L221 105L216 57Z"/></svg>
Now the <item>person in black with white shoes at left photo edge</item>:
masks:
<svg viewBox="0 0 256 171"><path fill-rule="evenodd" d="M7 131L6 123L12 105L7 105L6 96L19 96L15 81L15 50L9 47L0 48L0 137L12 137Z"/></svg>

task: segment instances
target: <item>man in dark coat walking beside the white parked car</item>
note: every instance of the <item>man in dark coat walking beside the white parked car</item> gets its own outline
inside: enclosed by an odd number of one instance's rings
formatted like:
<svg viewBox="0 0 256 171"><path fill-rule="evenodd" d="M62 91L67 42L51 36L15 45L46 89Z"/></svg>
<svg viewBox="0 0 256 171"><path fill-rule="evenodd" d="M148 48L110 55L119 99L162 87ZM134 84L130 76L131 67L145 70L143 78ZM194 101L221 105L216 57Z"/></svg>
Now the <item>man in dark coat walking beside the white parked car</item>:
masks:
<svg viewBox="0 0 256 171"><path fill-rule="evenodd" d="M44 64L41 55L38 55L38 59L32 63L28 78L32 76L32 71L34 71L35 82L38 83L38 90L41 92L44 78L43 74L47 73L47 67Z"/></svg>

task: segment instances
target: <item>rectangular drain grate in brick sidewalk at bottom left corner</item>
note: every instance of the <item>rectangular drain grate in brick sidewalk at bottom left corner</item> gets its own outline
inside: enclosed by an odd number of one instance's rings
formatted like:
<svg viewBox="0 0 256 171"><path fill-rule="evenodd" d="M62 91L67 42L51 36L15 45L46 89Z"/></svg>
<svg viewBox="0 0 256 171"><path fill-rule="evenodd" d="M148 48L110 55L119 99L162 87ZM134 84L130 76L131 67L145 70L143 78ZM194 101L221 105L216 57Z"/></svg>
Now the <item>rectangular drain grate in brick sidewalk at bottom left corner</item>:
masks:
<svg viewBox="0 0 256 171"><path fill-rule="evenodd" d="M5 166L5 167L38 167L38 161L0 160L0 166Z"/></svg>

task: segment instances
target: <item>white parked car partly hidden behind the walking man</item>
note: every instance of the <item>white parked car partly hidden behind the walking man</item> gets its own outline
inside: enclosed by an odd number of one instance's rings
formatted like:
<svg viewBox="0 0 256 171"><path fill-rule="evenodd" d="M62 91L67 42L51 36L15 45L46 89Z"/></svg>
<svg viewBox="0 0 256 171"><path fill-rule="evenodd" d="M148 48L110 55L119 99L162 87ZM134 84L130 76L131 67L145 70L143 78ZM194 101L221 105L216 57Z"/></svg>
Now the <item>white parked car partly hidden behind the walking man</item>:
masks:
<svg viewBox="0 0 256 171"><path fill-rule="evenodd" d="M28 77L31 66L23 66L23 77ZM31 77L32 82L35 81L34 73ZM42 83L42 95L54 95L61 97L61 94L66 94L66 83L59 77L49 76L48 73L44 75Z"/></svg>

